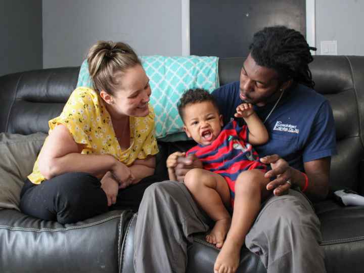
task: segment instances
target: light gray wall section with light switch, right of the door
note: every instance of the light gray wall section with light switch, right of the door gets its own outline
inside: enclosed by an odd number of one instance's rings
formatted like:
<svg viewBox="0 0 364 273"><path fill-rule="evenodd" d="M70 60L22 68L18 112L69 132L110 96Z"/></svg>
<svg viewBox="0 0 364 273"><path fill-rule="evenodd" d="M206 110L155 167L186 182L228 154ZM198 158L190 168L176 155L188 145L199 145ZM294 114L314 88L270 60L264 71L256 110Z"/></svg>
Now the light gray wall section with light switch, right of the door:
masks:
<svg viewBox="0 0 364 273"><path fill-rule="evenodd" d="M364 1L316 0L316 54L321 41L337 40L338 55L364 56Z"/></svg>

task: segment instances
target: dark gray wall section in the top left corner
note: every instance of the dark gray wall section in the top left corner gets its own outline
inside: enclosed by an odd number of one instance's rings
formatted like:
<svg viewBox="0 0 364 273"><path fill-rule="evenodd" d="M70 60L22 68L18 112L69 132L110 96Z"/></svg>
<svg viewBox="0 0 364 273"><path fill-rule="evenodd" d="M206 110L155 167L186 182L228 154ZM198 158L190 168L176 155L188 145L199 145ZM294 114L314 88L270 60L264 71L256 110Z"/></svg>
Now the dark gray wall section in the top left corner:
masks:
<svg viewBox="0 0 364 273"><path fill-rule="evenodd" d="M42 68L42 0L0 0L0 75Z"/></svg>

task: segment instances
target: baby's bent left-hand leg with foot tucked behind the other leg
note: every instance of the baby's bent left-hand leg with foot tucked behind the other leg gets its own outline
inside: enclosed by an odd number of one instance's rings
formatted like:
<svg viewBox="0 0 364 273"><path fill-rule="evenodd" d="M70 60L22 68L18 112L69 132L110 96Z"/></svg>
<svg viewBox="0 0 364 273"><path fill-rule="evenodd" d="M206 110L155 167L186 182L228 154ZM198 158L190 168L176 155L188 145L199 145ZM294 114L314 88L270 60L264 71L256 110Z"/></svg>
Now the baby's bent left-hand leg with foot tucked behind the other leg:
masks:
<svg viewBox="0 0 364 273"><path fill-rule="evenodd" d="M221 248L228 233L231 216L225 206L230 206L230 190L225 179L204 169L192 169L185 176L185 185L196 202L215 220L214 228L206 241Z"/></svg>

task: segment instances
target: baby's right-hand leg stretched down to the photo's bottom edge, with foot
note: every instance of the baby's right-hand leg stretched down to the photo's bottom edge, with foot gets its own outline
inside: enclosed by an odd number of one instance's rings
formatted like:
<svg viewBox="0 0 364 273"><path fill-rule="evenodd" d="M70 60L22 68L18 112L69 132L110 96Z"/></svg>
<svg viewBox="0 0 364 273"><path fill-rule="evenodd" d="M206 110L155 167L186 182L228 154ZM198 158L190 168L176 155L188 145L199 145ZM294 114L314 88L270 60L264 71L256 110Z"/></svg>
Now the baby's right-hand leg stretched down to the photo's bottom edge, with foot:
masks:
<svg viewBox="0 0 364 273"><path fill-rule="evenodd" d="M239 174L235 183L232 224L216 258L215 273L233 273L237 270L240 249L244 244L245 236L258 215L261 200L269 194L265 188L268 183L269 179L265 178L264 173L257 169Z"/></svg>

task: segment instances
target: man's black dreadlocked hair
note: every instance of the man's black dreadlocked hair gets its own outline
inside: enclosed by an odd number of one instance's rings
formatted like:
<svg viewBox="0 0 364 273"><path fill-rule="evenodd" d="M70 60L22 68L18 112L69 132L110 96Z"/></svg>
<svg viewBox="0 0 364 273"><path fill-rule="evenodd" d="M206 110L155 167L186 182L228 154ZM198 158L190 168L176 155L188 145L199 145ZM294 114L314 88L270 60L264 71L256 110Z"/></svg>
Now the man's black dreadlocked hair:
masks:
<svg viewBox="0 0 364 273"><path fill-rule="evenodd" d="M265 27L254 34L249 50L259 66L276 70L282 81L293 79L313 88L308 64L313 61L310 50L316 49L300 32L285 26Z"/></svg>

